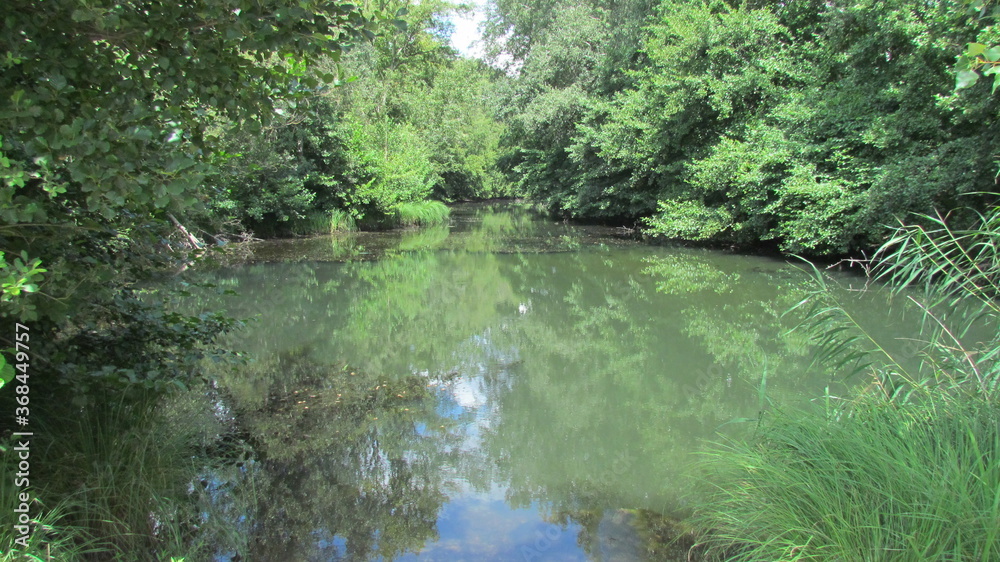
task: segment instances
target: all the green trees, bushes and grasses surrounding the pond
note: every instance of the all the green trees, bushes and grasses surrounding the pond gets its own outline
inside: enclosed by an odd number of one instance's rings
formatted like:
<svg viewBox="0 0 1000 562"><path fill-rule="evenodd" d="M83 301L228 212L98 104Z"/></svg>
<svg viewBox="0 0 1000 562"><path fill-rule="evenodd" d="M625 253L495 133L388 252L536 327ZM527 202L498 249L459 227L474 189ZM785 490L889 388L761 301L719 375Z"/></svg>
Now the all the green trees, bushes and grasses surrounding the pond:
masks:
<svg viewBox="0 0 1000 562"><path fill-rule="evenodd" d="M449 46L469 10L6 3L0 561L246 548L228 516L203 517L237 508L201 492L213 461L250 482L247 445L225 415L184 414L221 407L225 366L252 374L220 343L241 324L142 289L203 240L439 225L447 203L492 197L733 250L881 248L873 279L921 319L922 367L817 274L802 329L869 383L818 413L767 410L714 449L695 552L1000 558L1000 7L492 0L483 60ZM24 426L48 435L30 487Z"/></svg>

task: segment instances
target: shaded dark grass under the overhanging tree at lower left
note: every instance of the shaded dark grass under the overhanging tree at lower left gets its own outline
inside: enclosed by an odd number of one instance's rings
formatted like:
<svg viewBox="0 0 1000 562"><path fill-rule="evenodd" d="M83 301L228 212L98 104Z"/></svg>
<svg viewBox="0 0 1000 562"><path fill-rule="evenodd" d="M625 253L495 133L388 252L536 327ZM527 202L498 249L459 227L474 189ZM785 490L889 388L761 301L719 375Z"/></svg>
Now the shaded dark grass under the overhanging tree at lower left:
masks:
<svg viewBox="0 0 1000 562"><path fill-rule="evenodd" d="M213 527L212 506L191 494L208 462L199 442L219 433L211 404L168 416L161 396L124 394L37 416L31 451L37 501L27 549L5 523L20 491L7 478L16 459L0 456L0 549L7 553L0 561L202 560L220 544L239 543Z"/></svg>

